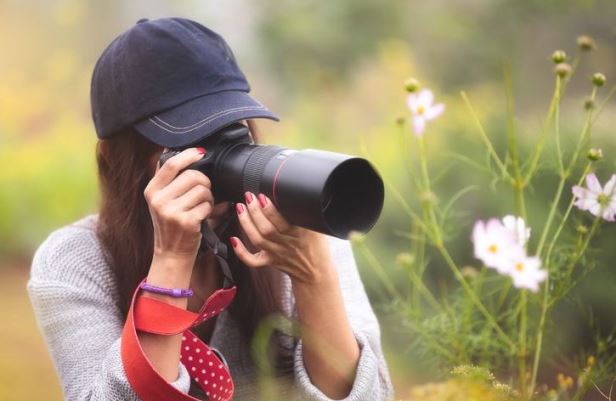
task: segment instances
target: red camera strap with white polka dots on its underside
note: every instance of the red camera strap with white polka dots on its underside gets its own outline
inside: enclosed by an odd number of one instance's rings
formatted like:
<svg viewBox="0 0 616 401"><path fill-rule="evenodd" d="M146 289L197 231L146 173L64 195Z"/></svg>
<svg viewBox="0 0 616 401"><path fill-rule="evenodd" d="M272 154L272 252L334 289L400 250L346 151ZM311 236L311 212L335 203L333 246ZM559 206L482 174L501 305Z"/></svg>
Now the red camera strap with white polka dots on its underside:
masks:
<svg viewBox="0 0 616 401"><path fill-rule="evenodd" d="M188 369L190 377L210 400L230 400L234 386L229 369L218 355L189 329L227 308L235 297L236 287L214 292L204 302L199 313L140 296L140 291L137 286L122 330L121 346L124 371L139 398L143 401L198 401L197 398L173 387L156 372L141 348L137 330L161 335L182 333L180 359Z"/></svg>

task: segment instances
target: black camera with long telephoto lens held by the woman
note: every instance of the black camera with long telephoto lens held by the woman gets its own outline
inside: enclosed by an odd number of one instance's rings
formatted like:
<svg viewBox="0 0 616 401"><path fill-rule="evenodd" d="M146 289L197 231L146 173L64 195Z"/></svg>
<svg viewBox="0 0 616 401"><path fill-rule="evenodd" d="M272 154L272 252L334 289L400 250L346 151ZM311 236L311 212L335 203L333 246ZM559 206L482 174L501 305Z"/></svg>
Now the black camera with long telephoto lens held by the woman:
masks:
<svg viewBox="0 0 616 401"><path fill-rule="evenodd" d="M343 239L351 231L369 231L381 214L383 180L366 159L256 145L240 123L193 146L207 153L188 168L209 177L216 202L242 202L246 191L263 193L289 223ZM163 153L161 164L180 150Z"/></svg>

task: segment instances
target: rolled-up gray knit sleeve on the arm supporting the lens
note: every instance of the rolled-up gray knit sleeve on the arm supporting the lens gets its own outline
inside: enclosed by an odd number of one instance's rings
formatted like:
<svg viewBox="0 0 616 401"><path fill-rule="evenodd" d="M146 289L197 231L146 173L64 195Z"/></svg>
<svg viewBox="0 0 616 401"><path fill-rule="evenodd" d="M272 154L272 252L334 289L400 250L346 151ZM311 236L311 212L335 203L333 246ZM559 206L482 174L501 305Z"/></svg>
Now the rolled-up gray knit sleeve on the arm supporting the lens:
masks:
<svg viewBox="0 0 616 401"><path fill-rule="evenodd" d="M329 237L330 248L351 329L360 348L359 362L351 392L345 401L383 401L393 397L393 387L381 349L379 322L370 306L357 271L353 249L347 240ZM314 401L331 401L312 382L302 353L302 341L295 348L295 380L303 396Z"/></svg>

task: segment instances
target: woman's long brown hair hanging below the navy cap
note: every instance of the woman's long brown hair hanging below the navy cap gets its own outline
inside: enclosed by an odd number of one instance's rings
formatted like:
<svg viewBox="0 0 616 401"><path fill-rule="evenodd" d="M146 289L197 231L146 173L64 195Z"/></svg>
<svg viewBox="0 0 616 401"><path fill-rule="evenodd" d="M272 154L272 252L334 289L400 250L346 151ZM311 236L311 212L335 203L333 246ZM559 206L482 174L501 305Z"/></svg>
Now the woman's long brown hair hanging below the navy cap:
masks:
<svg viewBox="0 0 616 401"><path fill-rule="evenodd" d="M258 143L256 132L251 134ZM97 235L116 279L124 319L132 295L148 275L152 262L154 234L143 191L154 174L152 160L161 151L162 147L132 128L100 140L96 148L101 189ZM220 240L228 243L234 235L246 243L237 216L230 215L233 220L225 231L217 232ZM246 341L250 341L263 317L281 312L280 274L269 267L250 269L237 258L230 259L230 268L238 291L229 312ZM282 346L281 342L278 345ZM275 365L280 373L292 368L288 353L280 349L276 352Z"/></svg>

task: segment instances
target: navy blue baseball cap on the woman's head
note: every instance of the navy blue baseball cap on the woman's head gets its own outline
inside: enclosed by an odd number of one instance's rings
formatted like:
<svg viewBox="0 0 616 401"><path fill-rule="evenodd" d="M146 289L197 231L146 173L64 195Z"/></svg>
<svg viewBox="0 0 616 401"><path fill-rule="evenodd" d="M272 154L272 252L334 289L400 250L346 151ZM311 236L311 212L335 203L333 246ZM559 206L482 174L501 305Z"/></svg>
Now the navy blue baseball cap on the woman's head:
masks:
<svg viewBox="0 0 616 401"><path fill-rule="evenodd" d="M240 120L277 121L249 91L220 35L184 18L141 19L98 59L92 117L99 138L134 126L161 146L183 147Z"/></svg>

